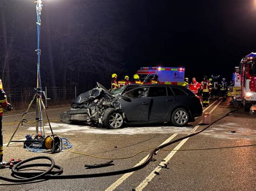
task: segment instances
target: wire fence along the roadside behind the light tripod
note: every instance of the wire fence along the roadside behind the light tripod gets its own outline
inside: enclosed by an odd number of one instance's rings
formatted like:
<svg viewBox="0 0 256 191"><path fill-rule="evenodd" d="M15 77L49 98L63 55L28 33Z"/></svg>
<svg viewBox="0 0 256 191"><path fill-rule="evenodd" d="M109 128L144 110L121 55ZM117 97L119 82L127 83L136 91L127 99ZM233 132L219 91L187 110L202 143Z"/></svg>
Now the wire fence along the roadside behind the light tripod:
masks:
<svg viewBox="0 0 256 191"><path fill-rule="evenodd" d="M16 109L25 109L32 101L33 96L36 94L35 88L11 88L5 90L7 100ZM71 100L77 96L77 87L43 87L43 100L45 106L70 104ZM32 104L36 107L36 102Z"/></svg>

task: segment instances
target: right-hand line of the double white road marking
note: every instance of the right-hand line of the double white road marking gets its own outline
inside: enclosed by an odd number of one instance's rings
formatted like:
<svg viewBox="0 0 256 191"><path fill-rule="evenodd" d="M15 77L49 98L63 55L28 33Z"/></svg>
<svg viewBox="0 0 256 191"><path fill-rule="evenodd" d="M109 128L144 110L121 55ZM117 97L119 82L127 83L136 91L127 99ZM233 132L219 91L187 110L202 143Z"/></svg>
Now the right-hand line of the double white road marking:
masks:
<svg viewBox="0 0 256 191"><path fill-rule="evenodd" d="M218 107L218 105L219 105L220 103L221 103L221 101L220 101L217 105L215 105L215 107L214 107L209 113L211 114L211 113ZM200 123L201 123L201 122L200 122ZM199 124L200 124L200 123L199 123ZM198 128L198 126L199 126L199 125L197 125L192 131L196 131L196 129ZM139 186L136 187L136 190L143 190L143 188L145 188L145 187L149 184L149 182L153 180L154 176L156 176L156 173L159 174L159 172L160 172L161 169L162 169L161 166L164 166L165 164L167 164L167 162L173 157L173 155L177 152L177 150L179 150L179 148L180 148L181 146L183 146L183 145L187 142L188 139L189 139L189 137L186 138L186 139L181 140L181 142L174 148L175 151L171 151L171 152L167 155L167 157L165 157L165 159L164 159L165 161L164 161L164 162L161 162L161 163L158 165L158 167L156 167L156 168L139 184Z"/></svg>

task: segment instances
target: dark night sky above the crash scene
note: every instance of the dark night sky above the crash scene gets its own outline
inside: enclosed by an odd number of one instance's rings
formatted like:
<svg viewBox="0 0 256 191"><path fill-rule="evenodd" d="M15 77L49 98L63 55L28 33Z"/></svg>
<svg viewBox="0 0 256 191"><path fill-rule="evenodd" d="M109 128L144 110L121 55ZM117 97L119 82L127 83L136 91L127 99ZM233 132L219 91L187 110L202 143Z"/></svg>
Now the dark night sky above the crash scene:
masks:
<svg viewBox="0 0 256 191"><path fill-rule="evenodd" d="M10 80L33 87L34 80L22 76L35 77L35 69L28 70L36 62L35 3L5 2L9 44L15 34L10 67L17 69ZM231 79L242 57L256 52L255 34L253 0L43 0L42 79L50 84L49 42L56 86L80 84L87 89L96 81L108 83L112 73L131 76L141 66L185 67L190 80L212 74ZM1 48L1 62L3 55ZM84 81L78 71L86 76Z"/></svg>

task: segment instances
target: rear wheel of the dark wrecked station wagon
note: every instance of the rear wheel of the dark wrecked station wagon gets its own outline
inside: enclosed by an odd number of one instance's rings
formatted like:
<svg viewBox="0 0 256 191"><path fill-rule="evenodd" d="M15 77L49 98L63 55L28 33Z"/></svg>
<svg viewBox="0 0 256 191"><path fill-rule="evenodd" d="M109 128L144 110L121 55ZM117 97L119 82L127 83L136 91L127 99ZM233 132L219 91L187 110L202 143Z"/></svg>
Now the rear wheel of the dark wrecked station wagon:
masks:
<svg viewBox="0 0 256 191"><path fill-rule="evenodd" d="M184 108L178 108L172 113L172 124L174 126L186 126L188 119L188 112Z"/></svg>

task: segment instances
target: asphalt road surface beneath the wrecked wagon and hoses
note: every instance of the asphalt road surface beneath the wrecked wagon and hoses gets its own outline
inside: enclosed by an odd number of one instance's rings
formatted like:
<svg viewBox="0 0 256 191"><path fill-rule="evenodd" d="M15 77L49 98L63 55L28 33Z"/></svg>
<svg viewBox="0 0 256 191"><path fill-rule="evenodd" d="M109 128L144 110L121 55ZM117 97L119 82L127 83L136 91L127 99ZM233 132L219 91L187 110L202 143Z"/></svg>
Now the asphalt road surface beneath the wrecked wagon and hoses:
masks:
<svg viewBox="0 0 256 191"><path fill-rule="evenodd" d="M73 146L72 151L106 158L128 157L207 126L200 124L199 117L185 128L176 128L167 123L106 130L61 123L59 115L66 110L68 108L48 109L53 132L68 138ZM215 102L206 112L211 111L212 121L215 121L231 110L228 102ZM232 112L200 134L165 147L166 150L157 152L146 167L132 173L46 180L23 185L0 180L0 190L255 190L255 146L246 146L256 144L255 118L243 111ZM86 169L85 164L101 164L110 159L97 159L67 150L55 154L34 153L24 149L22 143L11 143L6 147L20 119L20 114L5 114L3 118L5 161L48 155L64 168L64 175L89 174L133 167L149 153L145 151L129 159L113 160L113 166ZM14 140L35 133L35 113L29 113L26 119L29 122L18 129ZM45 132L50 135L47 124ZM0 169L0 174L11 178L9 168Z"/></svg>

